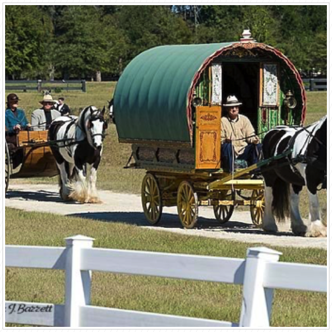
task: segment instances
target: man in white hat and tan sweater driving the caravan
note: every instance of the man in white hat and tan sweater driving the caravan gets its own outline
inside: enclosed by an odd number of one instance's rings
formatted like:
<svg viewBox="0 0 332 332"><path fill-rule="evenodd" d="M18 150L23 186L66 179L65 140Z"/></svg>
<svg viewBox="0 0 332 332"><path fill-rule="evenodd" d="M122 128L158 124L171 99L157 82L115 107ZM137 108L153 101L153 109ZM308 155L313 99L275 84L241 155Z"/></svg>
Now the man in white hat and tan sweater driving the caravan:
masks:
<svg viewBox="0 0 332 332"><path fill-rule="evenodd" d="M223 104L226 116L221 118L222 168L230 173L234 172L236 160L245 160L250 166L259 161L262 152L250 120L239 114L241 105L235 96L228 96Z"/></svg>

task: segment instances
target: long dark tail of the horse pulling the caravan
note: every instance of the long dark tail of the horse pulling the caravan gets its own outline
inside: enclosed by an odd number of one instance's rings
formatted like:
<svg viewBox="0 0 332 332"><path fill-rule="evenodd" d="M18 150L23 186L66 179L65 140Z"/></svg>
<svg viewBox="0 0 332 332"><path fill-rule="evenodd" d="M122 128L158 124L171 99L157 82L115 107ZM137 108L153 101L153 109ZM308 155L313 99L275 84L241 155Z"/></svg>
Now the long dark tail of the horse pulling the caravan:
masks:
<svg viewBox="0 0 332 332"><path fill-rule="evenodd" d="M278 220L290 216L290 184L278 178L272 186L272 211Z"/></svg>

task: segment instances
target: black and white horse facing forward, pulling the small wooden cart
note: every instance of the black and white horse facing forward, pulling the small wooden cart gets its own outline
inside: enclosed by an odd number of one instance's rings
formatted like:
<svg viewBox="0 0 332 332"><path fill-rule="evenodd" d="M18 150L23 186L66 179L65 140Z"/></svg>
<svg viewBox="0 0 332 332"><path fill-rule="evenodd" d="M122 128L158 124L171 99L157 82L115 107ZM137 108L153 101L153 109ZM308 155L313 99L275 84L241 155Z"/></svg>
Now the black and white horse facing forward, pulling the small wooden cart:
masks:
<svg viewBox="0 0 332 332"><path fill-rule="evenodd" d="M97 169L103 152L107 123L103 111L86 107L77 116L61 116L49 127L51 149L59 169L63 200L98 203ZM53 141L53 142L52 142ZM92 165L86 183L86 164Z"/></svg>

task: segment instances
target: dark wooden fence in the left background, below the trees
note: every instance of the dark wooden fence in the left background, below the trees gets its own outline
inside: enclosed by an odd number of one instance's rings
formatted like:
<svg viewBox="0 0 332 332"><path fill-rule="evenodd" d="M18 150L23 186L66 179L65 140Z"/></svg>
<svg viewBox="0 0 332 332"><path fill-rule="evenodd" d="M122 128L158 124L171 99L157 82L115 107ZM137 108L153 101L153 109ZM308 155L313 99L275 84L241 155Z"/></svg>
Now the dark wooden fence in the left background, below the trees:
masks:
<svg viewBox="0 0 332 332"><path fill-rule="evenodd" d="M72 86L72 84L80 86ZM55 81L43 81L43 80L15 80L5 81L6 90L35 90L41 92L42 90L52 90L53 88L60 88L61 90L82 90L87 91L85 80L55 80Z"/></svg>

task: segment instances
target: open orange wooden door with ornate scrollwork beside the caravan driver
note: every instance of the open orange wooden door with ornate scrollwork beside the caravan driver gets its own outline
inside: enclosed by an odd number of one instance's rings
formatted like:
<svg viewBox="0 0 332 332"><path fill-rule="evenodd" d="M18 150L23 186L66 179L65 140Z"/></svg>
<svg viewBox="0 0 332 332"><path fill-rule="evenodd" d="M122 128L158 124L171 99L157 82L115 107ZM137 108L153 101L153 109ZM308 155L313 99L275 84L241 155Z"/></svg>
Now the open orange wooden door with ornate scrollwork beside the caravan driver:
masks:
<svg viewBox="0 0 332 332"><path fill-rule="evenodd" d="M196 108L196 169L220 168L221 106Z"/></svg>

